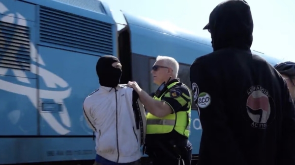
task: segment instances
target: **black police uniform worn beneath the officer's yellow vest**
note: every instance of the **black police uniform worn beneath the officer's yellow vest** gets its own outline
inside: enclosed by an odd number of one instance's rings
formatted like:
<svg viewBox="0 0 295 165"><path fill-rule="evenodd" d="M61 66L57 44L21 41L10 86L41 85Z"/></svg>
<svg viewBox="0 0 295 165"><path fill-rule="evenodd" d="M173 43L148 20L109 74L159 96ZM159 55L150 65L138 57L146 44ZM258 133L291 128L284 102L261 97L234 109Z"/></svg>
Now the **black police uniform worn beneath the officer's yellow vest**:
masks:
<svg viewBox="0 0 295 165"><path fill-rule="evenodd" d="M179 82L179 79L171 80L167 86L175 82ZM172 89L178 89L187 96L191 96L189 89L182 83L178 83L165 93L169 93ZM150 95L153 97L154 93ZM173 97L162 96L161 100L169 103L175 113L185 109ZM175 130L166 134L147 134L144 152L152 159L153 165L178 165L178 154L183 159L180 165L191 165L192 144L187 137L180 135Z"/></svg>

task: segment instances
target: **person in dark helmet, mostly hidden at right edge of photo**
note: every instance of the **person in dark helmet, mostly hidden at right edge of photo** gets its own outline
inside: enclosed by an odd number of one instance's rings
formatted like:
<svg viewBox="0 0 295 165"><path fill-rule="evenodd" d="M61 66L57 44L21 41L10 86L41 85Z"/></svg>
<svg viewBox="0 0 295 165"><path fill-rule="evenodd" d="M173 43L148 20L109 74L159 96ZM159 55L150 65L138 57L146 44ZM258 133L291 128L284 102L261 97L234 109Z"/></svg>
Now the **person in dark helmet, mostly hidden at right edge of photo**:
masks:
<svg viewBox="0 0 295 165"><path fill-rule="evenodd" d="M281 73L286 80L291 97L295 101L295 63L291 61L276 64L274 68Z"/></svg>

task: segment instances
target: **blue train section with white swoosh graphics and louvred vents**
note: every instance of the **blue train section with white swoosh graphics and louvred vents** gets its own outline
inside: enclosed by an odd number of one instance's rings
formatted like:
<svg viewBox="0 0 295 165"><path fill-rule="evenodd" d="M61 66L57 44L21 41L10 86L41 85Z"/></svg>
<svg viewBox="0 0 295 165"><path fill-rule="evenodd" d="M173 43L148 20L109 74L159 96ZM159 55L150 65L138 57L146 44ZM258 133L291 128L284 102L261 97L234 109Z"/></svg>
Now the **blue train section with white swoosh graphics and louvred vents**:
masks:
<svg viewBox="0 0 295 165"><path fill-rule="evenodd" d="M116 23L98 0L26 1L0 0L0 41L14 43L0 47L0 164L92 160L82 105L96 61L117 52Z"/></svg>

